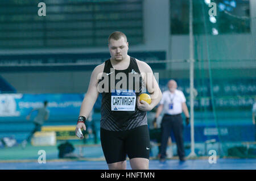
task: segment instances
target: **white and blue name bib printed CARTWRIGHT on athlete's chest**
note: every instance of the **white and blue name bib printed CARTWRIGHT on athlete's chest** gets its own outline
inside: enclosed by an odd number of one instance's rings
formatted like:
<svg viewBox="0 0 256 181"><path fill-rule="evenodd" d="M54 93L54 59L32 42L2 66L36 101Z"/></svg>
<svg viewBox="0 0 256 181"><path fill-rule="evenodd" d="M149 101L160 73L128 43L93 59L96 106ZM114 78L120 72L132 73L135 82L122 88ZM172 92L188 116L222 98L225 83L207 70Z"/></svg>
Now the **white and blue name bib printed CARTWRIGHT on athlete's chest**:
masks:
<svg viewBox="0 0 256 181"><path fill-rule="evenodd" d="M136 94L134 90L113 90L111 93L112 111L135 111Z"/></svg>

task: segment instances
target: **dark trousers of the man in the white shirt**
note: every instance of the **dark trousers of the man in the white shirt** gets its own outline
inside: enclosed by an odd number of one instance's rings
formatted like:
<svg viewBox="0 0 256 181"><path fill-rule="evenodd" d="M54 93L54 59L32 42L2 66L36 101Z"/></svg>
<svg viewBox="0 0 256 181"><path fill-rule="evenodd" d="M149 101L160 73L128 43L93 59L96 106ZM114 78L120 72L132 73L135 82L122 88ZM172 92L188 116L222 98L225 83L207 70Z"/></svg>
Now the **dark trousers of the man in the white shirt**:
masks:
<svg viewBox="0 0 256 181"><path fill-rule="evenodd" d="M166 158L166 149L168 137L171 134L171 131L174 132L174 137L177 144L177 154L179 158L182 159L185 157L184 151L184 140L183 140L183 120L181 114L179 115L164 115L161 123L162 131L162 140L160 147L161 158Z"/></svg>

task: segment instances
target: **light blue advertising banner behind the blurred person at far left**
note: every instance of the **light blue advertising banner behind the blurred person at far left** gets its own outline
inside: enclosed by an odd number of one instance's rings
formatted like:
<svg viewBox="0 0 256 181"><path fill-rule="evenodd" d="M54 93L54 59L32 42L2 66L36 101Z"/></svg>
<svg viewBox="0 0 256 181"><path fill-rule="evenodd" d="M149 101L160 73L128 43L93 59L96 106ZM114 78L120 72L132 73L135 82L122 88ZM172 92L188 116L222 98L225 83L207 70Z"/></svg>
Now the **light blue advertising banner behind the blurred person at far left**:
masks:
<svg viewBox="0 0 256 181"><path fill-rule="evenodd" d="M43 107L44 100L48 101L49 119L77 119L83 99L84 94L0 94L0 120L24 120L32 109Z"/></svg>

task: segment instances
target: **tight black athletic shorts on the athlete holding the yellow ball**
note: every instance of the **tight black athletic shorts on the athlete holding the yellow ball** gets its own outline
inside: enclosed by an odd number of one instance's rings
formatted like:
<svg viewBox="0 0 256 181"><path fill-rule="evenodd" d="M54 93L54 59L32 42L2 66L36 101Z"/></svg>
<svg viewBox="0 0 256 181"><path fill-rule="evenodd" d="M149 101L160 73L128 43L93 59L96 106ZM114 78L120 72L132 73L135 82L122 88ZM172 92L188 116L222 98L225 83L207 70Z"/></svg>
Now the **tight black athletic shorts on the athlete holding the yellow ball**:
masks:
<svg viewBox="0 0 256 181"><path fill-rule="evenodd" d="M101 128L101 146L107 163L132 158L147 158L150 155L150 137L147 125L127 130L108 131Z"/></svg>

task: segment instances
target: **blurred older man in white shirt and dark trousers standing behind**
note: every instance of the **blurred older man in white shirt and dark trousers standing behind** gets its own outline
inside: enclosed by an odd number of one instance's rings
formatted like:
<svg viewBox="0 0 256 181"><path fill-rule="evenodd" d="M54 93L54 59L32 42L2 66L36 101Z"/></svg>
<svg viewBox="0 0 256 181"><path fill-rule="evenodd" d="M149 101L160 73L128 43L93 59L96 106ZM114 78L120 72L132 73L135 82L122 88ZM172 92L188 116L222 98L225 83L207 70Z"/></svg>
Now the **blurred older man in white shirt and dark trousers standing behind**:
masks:
<svg viewBox="0 0 256 181"><path fill-rule="evenodd" d="M186 116L186 124L189 124L189 112L186 105L186 99L182 91L177 90L177 83L174 80L168 82L169 90L163 92L162 100L156 111L155 120L164 110L164 116L161 123L162 141L160 147L160 161L166 159L167 141L171 130L174 132L177 153L180 161L185 161L184 141L183 141L183 120L181 113Z"/></svg>

